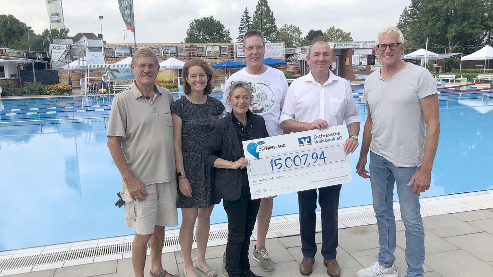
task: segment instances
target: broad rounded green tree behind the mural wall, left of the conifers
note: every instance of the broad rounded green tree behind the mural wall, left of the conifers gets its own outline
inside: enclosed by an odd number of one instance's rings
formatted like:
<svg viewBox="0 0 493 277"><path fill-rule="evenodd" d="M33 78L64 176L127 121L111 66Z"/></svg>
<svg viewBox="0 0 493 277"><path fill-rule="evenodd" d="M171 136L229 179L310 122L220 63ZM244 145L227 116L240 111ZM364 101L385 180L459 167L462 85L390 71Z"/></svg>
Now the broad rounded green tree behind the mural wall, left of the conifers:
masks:
<svg viewBox="0 0 493 277"><path fill-rule="evenodd" d="M187 29L185 43L230 42L229 29L212 16L195 19Z"/></svg>

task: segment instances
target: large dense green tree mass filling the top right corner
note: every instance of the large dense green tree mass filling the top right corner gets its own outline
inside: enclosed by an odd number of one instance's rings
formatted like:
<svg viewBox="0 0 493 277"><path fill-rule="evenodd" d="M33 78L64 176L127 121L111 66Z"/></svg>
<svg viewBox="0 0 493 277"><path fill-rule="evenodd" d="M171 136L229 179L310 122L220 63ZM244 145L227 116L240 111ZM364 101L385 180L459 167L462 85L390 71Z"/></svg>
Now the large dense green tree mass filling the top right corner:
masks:
<svg viewBox="0 0 493 277"><path fill-rule="evenodd" d="M491 0L411 0L407 10L397 25L409 27L404 37L408 45L422 45L428 38L451 53L455 47L491 39Z"/></svg>

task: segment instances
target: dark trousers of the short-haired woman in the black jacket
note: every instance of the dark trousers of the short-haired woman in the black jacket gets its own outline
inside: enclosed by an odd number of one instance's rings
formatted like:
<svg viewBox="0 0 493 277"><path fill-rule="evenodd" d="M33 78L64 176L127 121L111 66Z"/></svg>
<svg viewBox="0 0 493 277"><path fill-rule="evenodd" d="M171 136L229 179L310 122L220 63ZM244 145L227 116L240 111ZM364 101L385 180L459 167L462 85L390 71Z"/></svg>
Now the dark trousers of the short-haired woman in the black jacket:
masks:
<svg viewBox="0 0 493 277"><path fill-rule="evenodd" d="M257 218L260 199L252 200L250 189L241 188L241 196L234 201L223 201L228 215L228 244L226 245L226 271L233 276L240 276L250 268L248 248L255 219Z"/></svg>

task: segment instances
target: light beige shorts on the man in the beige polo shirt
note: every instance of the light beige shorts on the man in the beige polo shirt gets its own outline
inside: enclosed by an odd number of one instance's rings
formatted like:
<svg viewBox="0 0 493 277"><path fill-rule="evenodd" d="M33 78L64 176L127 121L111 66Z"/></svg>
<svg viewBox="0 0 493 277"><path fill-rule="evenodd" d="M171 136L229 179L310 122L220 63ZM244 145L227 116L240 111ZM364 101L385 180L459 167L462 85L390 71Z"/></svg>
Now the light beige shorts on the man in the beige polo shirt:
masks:
<svg viewBox="0 0 493 277"><path fill-rule="evenodd" d="M135 232L148 235L154 226L173 227L178 225L176 180L167 183L145 185L147 196L144 201L133 201L126 187L122 186L121 198L125 201L125 226Z"/></svg>

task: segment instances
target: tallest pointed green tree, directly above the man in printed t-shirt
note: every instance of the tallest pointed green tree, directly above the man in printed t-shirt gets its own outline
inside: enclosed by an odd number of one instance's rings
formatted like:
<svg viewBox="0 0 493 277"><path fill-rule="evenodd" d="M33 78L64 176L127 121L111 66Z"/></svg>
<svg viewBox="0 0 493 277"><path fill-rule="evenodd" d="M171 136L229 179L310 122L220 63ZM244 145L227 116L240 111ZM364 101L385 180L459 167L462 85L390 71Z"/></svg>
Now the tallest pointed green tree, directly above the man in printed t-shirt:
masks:
<svg viewBox="0 0 493 277"><path fill-rule="evenodd" d="M258 0L253 14L252 29L259 30L268 41L274 41L277 36L277 25L274 13L270 10L267 0Z"/></svg>

